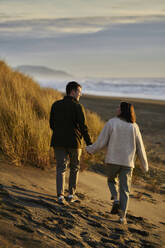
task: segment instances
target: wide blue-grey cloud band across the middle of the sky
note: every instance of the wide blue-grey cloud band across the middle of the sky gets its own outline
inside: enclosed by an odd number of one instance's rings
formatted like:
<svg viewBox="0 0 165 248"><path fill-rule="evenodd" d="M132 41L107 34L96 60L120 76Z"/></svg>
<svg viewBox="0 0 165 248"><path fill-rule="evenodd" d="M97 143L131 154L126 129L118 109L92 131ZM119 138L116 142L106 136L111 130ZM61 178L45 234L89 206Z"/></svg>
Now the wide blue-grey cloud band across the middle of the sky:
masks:
<svg viewBox="0 0 165 248"><path fill-rule="evenodd" d="M153 47L162 49L165 42L165 22L156 23L125 23L115 27L108 26L95 33L77 33L57 37L18 37L4 40L1 51L13 51L24 53L104 53L118 51L143 50ZM13 34L14 35L14 34ZM5 48L6 47L6 48ZM14 47L14 49L13 49Z"/></svg>

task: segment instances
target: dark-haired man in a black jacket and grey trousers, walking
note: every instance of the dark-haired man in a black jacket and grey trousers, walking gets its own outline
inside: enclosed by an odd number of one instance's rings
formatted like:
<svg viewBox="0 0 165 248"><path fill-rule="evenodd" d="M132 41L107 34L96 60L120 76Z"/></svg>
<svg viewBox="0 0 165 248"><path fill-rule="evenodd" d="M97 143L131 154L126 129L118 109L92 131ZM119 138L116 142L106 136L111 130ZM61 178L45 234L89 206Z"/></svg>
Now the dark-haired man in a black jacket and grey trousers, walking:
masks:
<svg viewBox="0 0 165 248"><path fill-rule="evenodd" d="M51 146L56 157L56 186L58 202L65 204L65 172L70 160L68 201L75 201L75 192L80 169L82 138L91 144L85 111L79 103L81 85L75 81L66 86L66 96L53 103L50 113L50 128L53 130Z"/></svg>

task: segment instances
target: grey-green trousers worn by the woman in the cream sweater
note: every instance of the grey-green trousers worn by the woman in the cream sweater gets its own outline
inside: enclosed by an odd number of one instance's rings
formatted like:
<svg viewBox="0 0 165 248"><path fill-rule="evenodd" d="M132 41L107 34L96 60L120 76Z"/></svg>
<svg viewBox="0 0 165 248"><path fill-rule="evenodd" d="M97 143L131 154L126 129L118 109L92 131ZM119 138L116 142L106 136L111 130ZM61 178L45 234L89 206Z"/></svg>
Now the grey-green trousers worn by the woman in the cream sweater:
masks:
<svg viewBox="0 0 165 248"><path fill-rule="evenodd" d="M117 164L107 164L109 190L111 192L112 199L117 198L119 200L122 217L126 216L128 209L132 173L133 168L131 167Z"/></svg>

